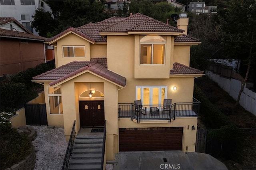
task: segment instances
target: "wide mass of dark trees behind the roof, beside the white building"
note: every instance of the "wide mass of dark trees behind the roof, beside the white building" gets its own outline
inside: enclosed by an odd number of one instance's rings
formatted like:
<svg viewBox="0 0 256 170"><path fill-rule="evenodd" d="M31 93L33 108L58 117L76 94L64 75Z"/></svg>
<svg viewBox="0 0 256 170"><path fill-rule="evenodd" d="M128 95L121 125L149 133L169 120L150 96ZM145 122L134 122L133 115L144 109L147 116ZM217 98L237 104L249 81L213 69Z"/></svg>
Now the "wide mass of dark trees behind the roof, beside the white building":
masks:
<svg viewBox="0 0 256 170"><path fill-rule="evenodd" d="M76 28L89 22L102 21L108 17L103 14L102 1L48 0L46 3L50 6L52 13L37 10L34 15L33 26L39 31L39 35L47 36L47 33L56 35L69 27Z"/></svg>

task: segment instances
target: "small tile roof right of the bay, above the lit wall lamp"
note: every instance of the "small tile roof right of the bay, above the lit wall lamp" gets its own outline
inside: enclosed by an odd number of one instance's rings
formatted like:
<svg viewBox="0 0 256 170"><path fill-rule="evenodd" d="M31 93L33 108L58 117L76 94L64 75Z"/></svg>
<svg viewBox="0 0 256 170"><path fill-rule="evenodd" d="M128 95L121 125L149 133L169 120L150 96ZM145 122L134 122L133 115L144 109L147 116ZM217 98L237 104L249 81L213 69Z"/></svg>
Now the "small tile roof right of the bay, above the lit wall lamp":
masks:
<svg viewBox="0 0 256 170"><path fill-rule="evenodd" d="M170 74L203 74L204 71L200 71L198 69L194 69L192 67L188 67L186 65L180 63L174 63L173 69L170 70Z"/></svg>

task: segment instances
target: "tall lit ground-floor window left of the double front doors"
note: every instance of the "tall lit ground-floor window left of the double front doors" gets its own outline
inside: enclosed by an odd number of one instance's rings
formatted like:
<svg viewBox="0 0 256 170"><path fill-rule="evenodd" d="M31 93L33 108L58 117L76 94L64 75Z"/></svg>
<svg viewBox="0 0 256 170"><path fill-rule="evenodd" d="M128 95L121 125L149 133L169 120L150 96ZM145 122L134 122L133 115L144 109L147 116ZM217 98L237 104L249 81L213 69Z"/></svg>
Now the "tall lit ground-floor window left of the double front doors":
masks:
<svg viewBox="0 0 256 170"><path fill-rule="evenodd" d="M63 114L62 95L60 87L48 87L50 114Z"/></svg>

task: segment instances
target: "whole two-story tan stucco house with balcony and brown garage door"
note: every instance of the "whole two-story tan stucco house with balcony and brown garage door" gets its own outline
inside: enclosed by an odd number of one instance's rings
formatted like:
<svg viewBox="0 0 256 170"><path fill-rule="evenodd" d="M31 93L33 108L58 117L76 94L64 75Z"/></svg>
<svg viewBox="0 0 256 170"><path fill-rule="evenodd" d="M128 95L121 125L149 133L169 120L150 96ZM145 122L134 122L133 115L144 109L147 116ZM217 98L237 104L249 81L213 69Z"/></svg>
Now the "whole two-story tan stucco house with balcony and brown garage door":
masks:
<svg viewBox="0 0 256 170"><path fill-rule="evenodd" d="M112 17L50 38L56 69L33 77L44 84L48 125L76 131L102 127L106 156L119 151L194 152L199 102L194 79L203 71L189 67L190 46L200 40L178 28L137 13ZM172 105L163 105L172 99ZM135 105L135 100L142 101Z"/></svg>

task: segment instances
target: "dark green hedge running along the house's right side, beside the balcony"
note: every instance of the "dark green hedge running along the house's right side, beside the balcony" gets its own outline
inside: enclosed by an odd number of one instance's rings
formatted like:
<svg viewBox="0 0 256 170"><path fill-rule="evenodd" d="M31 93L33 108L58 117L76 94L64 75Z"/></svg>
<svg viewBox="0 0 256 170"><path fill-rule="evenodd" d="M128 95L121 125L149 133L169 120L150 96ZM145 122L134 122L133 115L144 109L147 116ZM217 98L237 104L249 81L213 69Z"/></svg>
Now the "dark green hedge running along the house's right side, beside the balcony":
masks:
<svg viewBox="0 0 256 170"><path fill-rule="evenodd" d="M194 97L201 102L199 116L208 129L218 129L230 124L228 117L208 100L196 84L194 85Z"/></svg>

